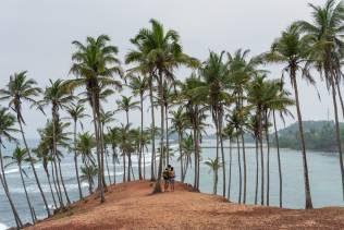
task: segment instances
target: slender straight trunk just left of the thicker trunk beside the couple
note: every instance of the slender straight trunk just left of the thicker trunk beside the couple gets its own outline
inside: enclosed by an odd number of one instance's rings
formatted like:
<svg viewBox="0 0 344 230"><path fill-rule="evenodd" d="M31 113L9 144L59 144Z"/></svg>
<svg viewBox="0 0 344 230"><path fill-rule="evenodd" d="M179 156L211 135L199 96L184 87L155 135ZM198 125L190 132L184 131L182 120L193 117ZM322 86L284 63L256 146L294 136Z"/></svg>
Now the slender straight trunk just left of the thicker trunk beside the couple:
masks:
<svg viewBox="0 0 344 230"><path fill-rule="evenodd" d="M155 119L155 106L152 99L152 83L149 82L149 99L150 99L150 114L151 114L151 161L150 161L150 181L156 180L155 162L156 162L156 119Z"/></svg>

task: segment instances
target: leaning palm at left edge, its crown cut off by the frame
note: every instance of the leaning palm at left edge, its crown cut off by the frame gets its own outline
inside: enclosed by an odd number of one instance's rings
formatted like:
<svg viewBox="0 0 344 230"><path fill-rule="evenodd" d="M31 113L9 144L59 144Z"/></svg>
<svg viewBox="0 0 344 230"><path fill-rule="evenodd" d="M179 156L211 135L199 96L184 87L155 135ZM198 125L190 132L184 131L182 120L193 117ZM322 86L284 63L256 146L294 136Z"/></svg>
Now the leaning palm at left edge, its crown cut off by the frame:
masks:
<svg viewBox="0 0 344 230"><path fill-rule="evenodd" d="M8 112L7 109L0 108L0 167L1 167L1 174L0 174L0 182L3 186L4 193L7 198L9 199L15 222L17 228L21 228L23 226L22 220L17 214L17 210L13 204L9 186L5 181L5 174L4 174L4 166L3 166L3 157L2 157L2 146L3 146L3 140L8 141L14 141L15 138L12 136L12 133L17 132L16 129L14 129L15 118L11 113Z"/></svg>

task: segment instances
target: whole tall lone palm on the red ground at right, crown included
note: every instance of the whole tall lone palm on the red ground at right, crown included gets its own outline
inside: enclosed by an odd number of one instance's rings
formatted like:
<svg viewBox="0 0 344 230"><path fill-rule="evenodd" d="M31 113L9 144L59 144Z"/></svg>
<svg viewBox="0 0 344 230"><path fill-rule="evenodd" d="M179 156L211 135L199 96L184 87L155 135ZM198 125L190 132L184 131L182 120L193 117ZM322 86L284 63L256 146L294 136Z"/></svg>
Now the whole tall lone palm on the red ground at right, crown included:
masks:
<svg viewBox="0 0 344 230"><path fill-rule="evenodd" d="M291 25L286 31L284 31L280 38L278 38L269 53L266 55L266 60L269 62L277 63L286 63L286 66L283 68L283 72L288 73L291 78L292 86L295 94L296 102L296 112L298 120L298 130L299 130L299 140L300 140L300 149L303 156L304 165L304 179L305 179L305 196L306 196L306 208L312 208L311 195L310 195L310 185L308 177L308 165L305 147L305 137L304 137L304 125L303 118L299 108L299 98L298 98L298 88L297 88L297 71L303 70L302 76L308 81L310 84L315 84L314 78L306 69L302 68L302 63L307 60L309 57L309 43L308 37L302 36L300 29L297 25Z"/></svg>

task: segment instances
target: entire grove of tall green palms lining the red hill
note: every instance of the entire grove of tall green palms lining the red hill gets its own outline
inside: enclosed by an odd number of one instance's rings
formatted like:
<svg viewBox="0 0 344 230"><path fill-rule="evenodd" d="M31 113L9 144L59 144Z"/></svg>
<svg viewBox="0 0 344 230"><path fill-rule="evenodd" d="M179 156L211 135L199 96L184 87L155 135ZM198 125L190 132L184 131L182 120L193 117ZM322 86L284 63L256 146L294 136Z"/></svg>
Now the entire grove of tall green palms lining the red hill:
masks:
<svg viewBox="0 0 344 230"><path fill-rule="evenodd" d="M245 135L249 134L256 144L255 204L260 202L261 205L269 205L270 138L275 138L280 207L282 207L283 172L277 117L284 120L285 116L292 116L288 107L293 105L296 105L299 125L305 207L312 208L297 82L298 78L303 78L315 84L316 81L311 74L316 72L319 73L321 80L325 81L333 98L336 126L334 135L337 141L344 197L344 169L337 108L337 98L340 98L340 108L344 117L341 95L344 4L329 0L322 7L309 5L312 9L312 22L293 23L275 39L269 51L256 57L249 57L249 50L243 49L233 53L210 51L207 60L201 62L184 53L177 32L165 31L161 23L150 20L150 27L142 28L130 40L133 48L125 56L125 64L130 66L126 71L122 69L116 57L118 47L109 45L108 36L100 35L97 38L87 37L84 44L73 41L75 52L72 55L73 63L70 74L73 74L74 78L50 81L50 85L41 89L33 78L27 77L26 72L11 75L5 88L0 89L0 99L8 101L9 108L14 112L13 116L4 108L0 109L0 181L16 225L21 227L22 221L11 199L4 173L3 158L5 157L1 155L3 141L16 141L13 137L15 133L21 134L23 147L19 145L15 148L11 156L11 164L16 164L21 169L24 189L23 173L26 174L26 172L22 164L30 165L48 216L51 214L46 198L48 194L42 192L35 169L36 164L41 162L44 166L56 208L64 209L71 204L71 199L61 169L63 153L74 154L79 198L85 197L82 191L82 182L85 181L88 183L89 193L94 193L96 189L102 203L108 186L106 179L110 184L116 183L116 165L121 157L124 170L123 182L135 180L133 155L136 155L138 159L138 179L146 179L145 153L148 150L147 146L150 145L149 179L156 181L153 193L159 193L162 169L169 165L173 156L169 136L175 133L180 179L184 182L187 171L193 167L194 190L199 191L200 143L209 126L214 129L217 137L214 158L206 161L213 171L213 193L218 193L219 173L222 172L221 194L223 197L233 199L231 196L232 165L234 164L232 148L236 148L239 180L234 189L239 191L238 203L246 203L247 170L251 169L247 169L246 166ZM284 64L281 78L267 77L269 72L265 66L268 63ZM179 80L175 73L180 66L192 71L192 74L183 81ZM285 77L291 81L294 98L285 88ZM128 88L132 96L121 95L115 101L116 108L105 111L103 105L109 97L121 93L123 88ZM144 101L147 97L149 106L145 108ZM38 131L40 142L33 149L29 148L25 138L24 125L26 123L22 111L24 102L28 102L45 114L48 113L47 107L50 109L50 119L46 126ZM91 116L86 112L86 104L91 109ZM147 109L150 111L149 128L144 126ZM139 128L132 128L130 122L132 110L140 112ZM69 114L67 118L61 118L61 111ZM115 121L114 114L119 111L125 112L126 121L113 126L111 124ZM158 111L160 114L157 116ZM93 121L93 132L84 131L82 121L86 117L90 117ZM156 124L157 117L160 121L159 128ZM72 122L66 122L64 119L70 119ZM15 123L19 129L15 128ZM73 132L67 131L71 130L71 125L73 125ZM271 135L270 131L274 134ZM156 143L157 138L159 138L158 143ZM229 153L224 152L225 141L230 144ZM110 158L112 158L113 177L109 168ZM260 194L258 194L259 191ZM35 222L37 220L35 209L26 189L25 195L32 220Z"/></svg>

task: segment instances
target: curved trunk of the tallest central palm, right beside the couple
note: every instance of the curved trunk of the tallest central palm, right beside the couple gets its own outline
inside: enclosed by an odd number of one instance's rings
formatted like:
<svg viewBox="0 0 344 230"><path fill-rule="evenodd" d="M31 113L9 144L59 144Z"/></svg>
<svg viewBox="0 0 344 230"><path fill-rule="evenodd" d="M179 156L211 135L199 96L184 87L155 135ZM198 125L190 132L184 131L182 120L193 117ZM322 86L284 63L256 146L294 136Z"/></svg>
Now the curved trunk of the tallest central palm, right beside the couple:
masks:
<svg viewBox="0 0 344 230"><path fill-rule="evenodd" d="M164 134L164 109L163 109L163 87L162 87L162 73L160 73L160 81L159 81L159 89L160 89L160 113L161 113L161 135L160 135L160 159L159 159L159 169L158 169L158 177L155 186L153 193L161 193L161 174L162 174L162 158L164 156L164 144L163 144L163 134Z"/></svg>

